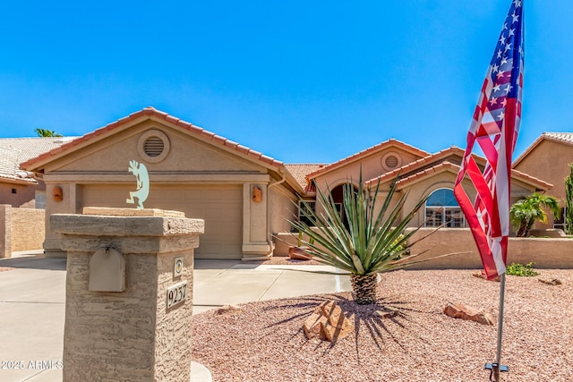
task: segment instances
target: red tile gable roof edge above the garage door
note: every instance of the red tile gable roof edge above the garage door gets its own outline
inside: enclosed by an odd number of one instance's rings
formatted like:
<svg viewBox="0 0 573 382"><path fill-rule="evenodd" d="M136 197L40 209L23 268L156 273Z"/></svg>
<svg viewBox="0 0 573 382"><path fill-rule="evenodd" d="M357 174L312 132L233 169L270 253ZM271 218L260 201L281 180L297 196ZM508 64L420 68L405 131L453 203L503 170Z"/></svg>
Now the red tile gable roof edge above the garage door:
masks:
<svg viewBox="0 0 573 382"><path fill-rule="evenodd" d="M179 119L173 115L168 115L167 113L159 111L154 107L145 107L144 109L142 109L138 112L135 112L135 113L128 115L124 118L121 118L121 119L119 119L113 123L109 123L106 126L101 127L94 132L90 132L90 133L88 133L88 134L86 134L86 135L84 135L84 136L82 136L76 140L65 143L61 147L58 147L56 149L51 149L50 151L47 151L47 152L39 155L38 157L33 157L30 160L28 160L27 162L22 163L21 166L22 166L22 168L33 168L33 166L37 165L39 162L49 160L50 157L54 157L57 154L59 154L60 152L63 152L67 149L71 149L74 146L77 146L78 144L81 144L85 141L89 141L91 139L94 139L98 135L101 135L101 134L104 134L104 133L109 132L111 130L114 130L117 127L123 126L125 123L130 123L130 122L132 122L138 118L155 118L158 120L163 120L163 121L166 121L167 123L175 124L179 128L181 128L187 132L190 132L193 135L196 135L197 137L200 137L203 140L210 140L215 145L219 145L219 146L227 147L229 149L233 149L233 150L235 150L235 151L237 151L237 152L239 152L239 153L241 153L247 157L251 157L252 159L259 160L266 165L277 167L277 168L283 166L283 163L278 161L277 159L274 159L272 157L267 157L258 151L255 151L253 149L242 146L242 145L234 142L233 140L227 140L227 138L221 137L221 136L215 134L214 132L209 132L209 131L207 131L207 130L199 127L199 126L195 126L192 123L185 122L184 120Z"/></svg>

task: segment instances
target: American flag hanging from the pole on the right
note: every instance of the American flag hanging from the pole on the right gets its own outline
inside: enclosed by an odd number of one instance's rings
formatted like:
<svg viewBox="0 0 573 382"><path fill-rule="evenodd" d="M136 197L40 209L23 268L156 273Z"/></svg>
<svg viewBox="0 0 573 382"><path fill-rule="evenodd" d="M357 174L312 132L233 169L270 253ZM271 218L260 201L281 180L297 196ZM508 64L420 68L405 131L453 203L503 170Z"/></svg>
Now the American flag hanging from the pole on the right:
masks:
<svg viewBox="0 0 573 382"><path fill-rule="evenodd" d="M475 106L454 187L489 280L505 273L507 261L511 157L521 121L523 64L523 1L513 0ZM472 156L475 142L487 159L483 170ZM474 203L464 187L475 194Z"/></svg>

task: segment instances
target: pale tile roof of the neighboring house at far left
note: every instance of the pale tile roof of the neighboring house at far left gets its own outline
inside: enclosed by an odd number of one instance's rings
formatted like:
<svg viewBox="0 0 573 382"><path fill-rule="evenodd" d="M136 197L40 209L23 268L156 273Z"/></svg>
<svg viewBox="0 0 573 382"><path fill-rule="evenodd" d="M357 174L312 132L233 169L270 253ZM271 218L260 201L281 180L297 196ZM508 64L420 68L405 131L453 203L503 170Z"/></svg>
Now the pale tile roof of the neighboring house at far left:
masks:
<svg viewBox="0 0 573 382"><path fill-rule="evenodd" d="M21 170L20 164L32 157L38 157L46 151L59 148L70 140L73 138L1 138L0 178L25 183L38 183L33 178L32 173Z"/></svg>

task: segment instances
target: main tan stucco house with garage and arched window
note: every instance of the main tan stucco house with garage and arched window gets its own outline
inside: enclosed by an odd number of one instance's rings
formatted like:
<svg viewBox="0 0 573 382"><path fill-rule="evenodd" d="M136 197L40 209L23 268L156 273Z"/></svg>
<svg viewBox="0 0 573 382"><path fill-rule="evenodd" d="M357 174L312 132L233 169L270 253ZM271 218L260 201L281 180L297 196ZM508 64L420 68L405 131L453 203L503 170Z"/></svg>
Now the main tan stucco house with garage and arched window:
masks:
<svg viewBox="0 0 573 382"><path fill-rule="evenodd" d="M81 213L84 207L134 207L127 204L136 179L130 162L147 167L150 178L145 208L175 209L205 220L205 233L195 251L199 259L260 259L277 253L276 236L290 231L287 219L299 213L299 197L314 208L316 187L342 198L344 183L363 179L381 182L381 194L399 175L398 193L408 192L406 209L431 195L412 225L463 227L465 219L452 189L463 150L431 154L398 140L332 164L286 165L253 149L208 132L152 107L110 123L21 165L42 174L47 195L47 255L62 255L59 236L49 228L49 215ZM478 165L484 159L476 157ZM514 200L551 183L512 171ZM472 195L470 195L471 197Z"/></svg>

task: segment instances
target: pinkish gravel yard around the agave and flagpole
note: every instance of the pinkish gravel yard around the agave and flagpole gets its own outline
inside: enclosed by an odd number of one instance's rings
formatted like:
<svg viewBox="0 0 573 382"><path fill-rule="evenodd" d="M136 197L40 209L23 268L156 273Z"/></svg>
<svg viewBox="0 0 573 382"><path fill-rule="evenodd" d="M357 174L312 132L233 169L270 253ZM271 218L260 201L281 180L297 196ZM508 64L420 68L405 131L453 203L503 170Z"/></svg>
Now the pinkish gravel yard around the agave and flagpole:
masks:
<svg viewBox="0 0 573 382"><path fill-rule="evenodd" d="M193 317L192 357L215 381L487 381L485 362L496 352L497 325L449 318L448 302L498 318L500 284L469 270L384 274L381 304L356 306L350 293L241 305L242 313ZM573 270L507 276L502 381L573 380ZM558 278L549 285L538 278ZM334 300L355 322L355 335L329 344L309 341L304 319ZM382 306L400 311L378 318Z"/></svg>

